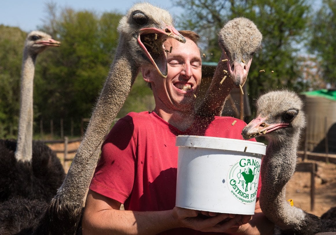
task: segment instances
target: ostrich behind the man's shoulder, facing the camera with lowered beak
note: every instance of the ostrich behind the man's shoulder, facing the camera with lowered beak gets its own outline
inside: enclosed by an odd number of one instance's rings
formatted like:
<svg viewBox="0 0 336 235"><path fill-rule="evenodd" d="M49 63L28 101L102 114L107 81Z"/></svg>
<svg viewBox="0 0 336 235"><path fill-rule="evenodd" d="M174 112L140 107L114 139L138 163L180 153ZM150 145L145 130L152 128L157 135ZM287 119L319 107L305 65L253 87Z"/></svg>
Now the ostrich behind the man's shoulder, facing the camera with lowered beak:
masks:
<svg viewBox="0 0 336 235"><path fill-rule="evenodd" d="M197 110L198 115L221 116L227 95L234 87L245 84L253 54L261 48L261 40L260 31L247 18L234 18L224 25L218 33L222 55L205 100ZM226 76L229 79L224 79Z"/></svg>

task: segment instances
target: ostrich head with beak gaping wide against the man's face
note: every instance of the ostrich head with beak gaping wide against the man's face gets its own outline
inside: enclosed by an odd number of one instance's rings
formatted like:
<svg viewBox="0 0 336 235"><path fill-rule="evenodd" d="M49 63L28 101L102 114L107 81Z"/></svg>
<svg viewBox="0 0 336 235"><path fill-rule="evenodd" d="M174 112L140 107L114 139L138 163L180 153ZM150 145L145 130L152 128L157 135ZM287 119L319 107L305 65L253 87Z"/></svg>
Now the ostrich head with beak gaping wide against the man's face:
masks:
<svg viewBox="0 0 336 235"><path fill-rule="evenodd" d="M167 77L163 42L172 37L185 43L185 38L172 25L173 19L166 10L149 3L138 3L120 20L118 31L121 37L130 39L127 40L128 51L132 57L139 58L138 54L141 54L140 65L151 63L162 77Z"/></svg>

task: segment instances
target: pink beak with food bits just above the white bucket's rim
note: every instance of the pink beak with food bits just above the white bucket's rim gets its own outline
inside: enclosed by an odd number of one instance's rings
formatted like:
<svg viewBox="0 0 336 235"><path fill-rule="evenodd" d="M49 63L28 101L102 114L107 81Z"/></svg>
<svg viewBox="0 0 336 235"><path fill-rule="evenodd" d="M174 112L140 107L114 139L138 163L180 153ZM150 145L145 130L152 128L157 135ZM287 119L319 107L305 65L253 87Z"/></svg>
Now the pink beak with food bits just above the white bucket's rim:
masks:
<svg viewBox="0 0 336 235"><path fill-rule="evenodd" d="M285 122L268 124L267 118L258 116L243 128L242 135L245 140L249 140L275 130L286 128L288 125L289 123Z"/></svg>

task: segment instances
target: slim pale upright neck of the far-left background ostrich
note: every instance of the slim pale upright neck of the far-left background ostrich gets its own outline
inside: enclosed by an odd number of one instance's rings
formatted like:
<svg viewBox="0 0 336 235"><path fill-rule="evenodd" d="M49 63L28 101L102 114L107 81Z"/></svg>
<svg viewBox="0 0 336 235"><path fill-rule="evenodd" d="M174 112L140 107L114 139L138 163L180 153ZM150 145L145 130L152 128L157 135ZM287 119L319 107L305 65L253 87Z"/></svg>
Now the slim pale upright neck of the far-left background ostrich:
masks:
<svg viewBox="0 0 336 235"><path fill-rule="evenodd" d="M25 48L20 88L20 114L18 125L16 161L30 162L32 160L33 141L33 81L36 55L31 55Z"/></svg>

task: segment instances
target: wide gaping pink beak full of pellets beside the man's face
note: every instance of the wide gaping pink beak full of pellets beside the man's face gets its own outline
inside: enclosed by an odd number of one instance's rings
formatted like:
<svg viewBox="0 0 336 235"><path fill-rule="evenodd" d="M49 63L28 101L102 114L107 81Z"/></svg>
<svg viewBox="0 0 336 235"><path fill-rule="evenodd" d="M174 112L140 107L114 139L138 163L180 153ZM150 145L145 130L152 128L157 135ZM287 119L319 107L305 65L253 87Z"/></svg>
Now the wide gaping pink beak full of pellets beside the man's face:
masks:
<svg viewBox="0 0 336 235"><path fill-rule="evenodd" d="M185 38L173 27L165 26L164 30L158 28L140 29L137 41L146 55L146 58L153 64L161 77L166 78L168 74L167 55L163 42L172 37L179 42L185 43Z"/></svg>

